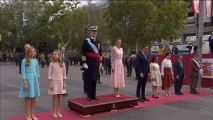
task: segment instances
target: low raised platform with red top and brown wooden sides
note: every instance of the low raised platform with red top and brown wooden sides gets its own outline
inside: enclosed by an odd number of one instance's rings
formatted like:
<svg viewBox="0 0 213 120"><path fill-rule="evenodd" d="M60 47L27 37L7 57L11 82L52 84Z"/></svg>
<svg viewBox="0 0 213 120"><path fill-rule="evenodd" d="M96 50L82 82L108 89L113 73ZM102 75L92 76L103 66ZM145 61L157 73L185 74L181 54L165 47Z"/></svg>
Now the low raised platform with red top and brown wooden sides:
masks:
<svg viewBox="0 0 213 120"><path fill-rule="evenodd" d="M121 97L115 97L114 94L107 94L97 96L97 98L99 100L87 101L85 97L70 99L68 101L68 107L86 117L93 113L112 111L138 105L138 98L124 94L121 94Z"/></svg>

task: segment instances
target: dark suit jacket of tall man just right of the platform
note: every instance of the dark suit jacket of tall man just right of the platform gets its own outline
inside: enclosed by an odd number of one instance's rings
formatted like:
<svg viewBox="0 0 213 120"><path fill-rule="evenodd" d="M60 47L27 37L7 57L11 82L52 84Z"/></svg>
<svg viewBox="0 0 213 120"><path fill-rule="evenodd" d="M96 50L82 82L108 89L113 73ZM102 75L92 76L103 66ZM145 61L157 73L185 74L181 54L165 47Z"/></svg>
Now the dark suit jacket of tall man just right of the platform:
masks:
<svg viewBox="0 0 213 120"><path fill-rule="evenodd" d="M136 71L137 76L140 76L140 73L143 73L143 75L149 73L149 58L148 55L146 55L146 58L144 54L139 51L136 55Z"/></svg>

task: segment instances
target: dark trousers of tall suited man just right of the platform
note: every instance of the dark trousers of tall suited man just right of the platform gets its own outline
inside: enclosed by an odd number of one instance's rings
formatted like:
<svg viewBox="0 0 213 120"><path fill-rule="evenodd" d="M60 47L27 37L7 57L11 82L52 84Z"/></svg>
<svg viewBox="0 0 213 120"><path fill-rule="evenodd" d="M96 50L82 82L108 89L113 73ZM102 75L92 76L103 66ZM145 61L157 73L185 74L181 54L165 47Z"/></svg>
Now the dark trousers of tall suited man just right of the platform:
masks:
<svg viewBox="0 0 213 120"><path fill-rule="evenodd" d="M136 96L140 99L146 98L145 97L146 82L147 82L147 74L145 74L143 78L138 77Z"/></svg>

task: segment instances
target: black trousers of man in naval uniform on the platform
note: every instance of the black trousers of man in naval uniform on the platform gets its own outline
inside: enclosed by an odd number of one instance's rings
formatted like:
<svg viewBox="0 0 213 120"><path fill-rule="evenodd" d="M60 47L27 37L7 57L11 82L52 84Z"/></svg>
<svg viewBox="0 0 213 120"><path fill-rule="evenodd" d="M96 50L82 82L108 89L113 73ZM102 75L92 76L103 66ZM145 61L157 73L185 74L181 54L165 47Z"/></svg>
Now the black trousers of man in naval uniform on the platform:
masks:
<svg viewBox="0 0 213 120"><path fill-rule="evenodd" d="M96 81L87 81L86 82L87 88L87 97L94 99L96 98Z"/></svg>

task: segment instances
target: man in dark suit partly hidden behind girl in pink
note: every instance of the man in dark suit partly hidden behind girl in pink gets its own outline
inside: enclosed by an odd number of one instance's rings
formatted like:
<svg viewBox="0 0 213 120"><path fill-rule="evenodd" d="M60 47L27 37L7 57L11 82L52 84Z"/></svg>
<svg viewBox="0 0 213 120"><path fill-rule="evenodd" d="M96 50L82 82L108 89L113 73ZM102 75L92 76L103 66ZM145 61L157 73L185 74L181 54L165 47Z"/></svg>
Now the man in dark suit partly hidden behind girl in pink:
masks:
<svg viewBox="0 0 213 120"><path fill-rule="evenodd" d="M60 52L61 52L61 59L65 64L66 67L66 75L68 75L68 71L69 71L69 56L67 54L65 54L65 47L60 47ZM67 93L63 94L63 95L68 95Z"/></svg>

